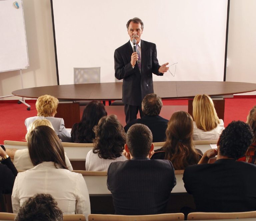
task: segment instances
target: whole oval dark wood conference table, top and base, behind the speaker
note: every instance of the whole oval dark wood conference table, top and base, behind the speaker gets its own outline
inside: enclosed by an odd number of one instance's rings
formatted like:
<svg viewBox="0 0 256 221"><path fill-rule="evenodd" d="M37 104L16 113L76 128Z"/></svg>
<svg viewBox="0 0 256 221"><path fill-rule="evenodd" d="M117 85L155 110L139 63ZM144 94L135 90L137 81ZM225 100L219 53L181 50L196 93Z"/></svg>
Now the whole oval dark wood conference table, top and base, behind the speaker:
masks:
<svg viewBox="0 0 256 221"><path fill-rule="evenodd" d="M132 88L131 88L132 90ZM227 81L154 81L154 92L162 99L193 98L197 94L230 97L233 94L256 90L254 83L227 82ZM20 97L38 98L49 94L59 100L121 100L122 82L68 84L44 87L25 88L13 91L12 94ZM225 100L214 100L216 112L220 119L224 120ZM28 108L29 110L30 108ZM121 106L106 107L108 114L116 114L122 125L125 125L124 110ZM169 119L171 114L178 110L188 111L192 115L192 100L186 106L164 106L160 115ZM65 126L71 128L74 123L80 121L79 103L60 102L56 117L65 121Z"/></svg>

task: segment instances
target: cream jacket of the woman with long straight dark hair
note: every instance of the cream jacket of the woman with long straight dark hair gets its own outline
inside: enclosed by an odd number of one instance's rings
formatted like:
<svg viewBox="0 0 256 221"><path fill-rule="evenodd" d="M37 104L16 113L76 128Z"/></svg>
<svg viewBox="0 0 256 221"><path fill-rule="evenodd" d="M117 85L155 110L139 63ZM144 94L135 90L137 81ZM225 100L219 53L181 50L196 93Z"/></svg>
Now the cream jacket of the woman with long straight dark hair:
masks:
<svg viewBox="0 0 256 221"><path fill-rule="evenodd" d="M80 173L56 168L54 162L43 162L19 172L12 190L12 209L17 213L22 204L37 193L51 194L64 214L91 213L85 180Z"/></svg>

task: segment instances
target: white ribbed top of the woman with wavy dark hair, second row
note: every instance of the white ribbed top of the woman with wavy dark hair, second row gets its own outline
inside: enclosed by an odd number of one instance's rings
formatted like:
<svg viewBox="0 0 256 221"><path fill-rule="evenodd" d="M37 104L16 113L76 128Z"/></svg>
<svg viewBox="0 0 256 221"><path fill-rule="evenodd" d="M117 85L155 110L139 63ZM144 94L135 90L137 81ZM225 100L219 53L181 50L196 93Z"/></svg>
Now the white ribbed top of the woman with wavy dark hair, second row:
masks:
<svg viewBox="0 0 256 221"><path fill-rule="evenodd" d="M92 150L90 150L86 155L85 169L89 171L108 171L108 167L112 162L126 160L126 157L123 155L115 160L99 158L98 154L94 154Z"/></svg>

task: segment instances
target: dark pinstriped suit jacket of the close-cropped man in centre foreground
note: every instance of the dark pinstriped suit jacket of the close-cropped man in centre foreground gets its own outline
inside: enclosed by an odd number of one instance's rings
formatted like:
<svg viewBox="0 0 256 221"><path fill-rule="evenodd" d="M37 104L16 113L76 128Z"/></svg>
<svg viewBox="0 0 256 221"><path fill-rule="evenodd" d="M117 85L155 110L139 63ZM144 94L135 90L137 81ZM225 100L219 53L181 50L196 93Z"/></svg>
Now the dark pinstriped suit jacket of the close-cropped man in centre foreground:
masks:
<svg viewBox="0 0 256 221"><path fill-rule="evenodd" d="M165 213L176 178L167 160L133 158L111 163L107 186L116 214L148 215Z"/></svg>

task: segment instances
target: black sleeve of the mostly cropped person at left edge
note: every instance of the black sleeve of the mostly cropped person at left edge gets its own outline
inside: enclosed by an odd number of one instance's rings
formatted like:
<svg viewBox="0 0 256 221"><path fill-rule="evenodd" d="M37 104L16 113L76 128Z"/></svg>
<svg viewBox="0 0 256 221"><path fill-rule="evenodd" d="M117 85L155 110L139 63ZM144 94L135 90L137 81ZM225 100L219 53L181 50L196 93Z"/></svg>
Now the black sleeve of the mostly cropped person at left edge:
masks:
<svg viewBox="0 0 256 221"><path fill-rule="evenodd" d="M1 162L0 171L2 193L11 193L18 171L9 157Z"/></svg>

